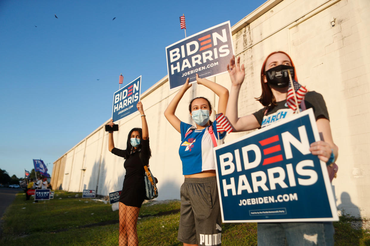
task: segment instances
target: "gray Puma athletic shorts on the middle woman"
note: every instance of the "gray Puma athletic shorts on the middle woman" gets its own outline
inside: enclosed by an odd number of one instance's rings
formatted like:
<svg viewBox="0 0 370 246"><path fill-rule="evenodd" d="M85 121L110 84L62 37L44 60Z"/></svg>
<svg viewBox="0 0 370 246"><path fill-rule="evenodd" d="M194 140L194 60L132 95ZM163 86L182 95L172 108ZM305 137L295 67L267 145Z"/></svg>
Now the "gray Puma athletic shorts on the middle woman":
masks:
<svg viewBox="0 0 370 246"><path fill-rule="evenodd" d="M216 177L185 178L177 239L183 243L221 245L221 208Z"/></svg>

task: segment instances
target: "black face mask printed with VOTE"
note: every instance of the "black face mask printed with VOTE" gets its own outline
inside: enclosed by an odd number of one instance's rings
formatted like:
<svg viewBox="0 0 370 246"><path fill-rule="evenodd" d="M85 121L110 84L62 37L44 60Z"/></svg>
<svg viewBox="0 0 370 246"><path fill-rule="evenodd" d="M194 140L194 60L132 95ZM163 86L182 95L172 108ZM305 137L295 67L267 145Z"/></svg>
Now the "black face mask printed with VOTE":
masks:
<svg viewBox="0 0 370 246"><path fill-rule="evenodd" d="M272 67L265 72L267 83L270 86L275 86L278 88L287 87L290 83L288 69L290 70L290 75L292 79L294 78L294 67L287 65L279 65Z"/></svg>

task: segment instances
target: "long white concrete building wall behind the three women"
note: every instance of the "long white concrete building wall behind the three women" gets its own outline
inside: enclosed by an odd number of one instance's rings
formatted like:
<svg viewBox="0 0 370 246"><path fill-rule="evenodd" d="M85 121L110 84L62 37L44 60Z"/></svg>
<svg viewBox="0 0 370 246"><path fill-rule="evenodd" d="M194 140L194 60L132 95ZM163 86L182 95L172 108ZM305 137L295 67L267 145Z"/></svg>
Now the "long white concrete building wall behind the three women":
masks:
<svg viewBox="0 0 370 246"><path fill-rule="evenodd" d="M270 0L232 27L235 54L246 69L239 115L262 107L254 98L261 93L259 76L265 57L272 51L289 53L299 82L323 94L328 107L340 155L338 177L332 183L337 206L346 213L366 217L370 216L369 13L369 0ZM227 74L217 76L215 82L230 89ZM163 116L176 92L169 91L164 77L141 95L149 124L150 167L159 180L159 199L179 198L184 179L178 156L180 136ZM176 111L182 121L189 122L188 103L196 96L217 103L208 89L194 84ZM97 182L98 194L121 189L124 160L107 150L108 136L102 129L106 123L67 153L64 170L59 170L69 173L64 174L64 190L82 191L85 186L94 188ZM132 115L119 125L120 131L114 133L115 146L124 149L128 131L141 126L140 117ZM245 134L232 133L226 142Z"/></svg>

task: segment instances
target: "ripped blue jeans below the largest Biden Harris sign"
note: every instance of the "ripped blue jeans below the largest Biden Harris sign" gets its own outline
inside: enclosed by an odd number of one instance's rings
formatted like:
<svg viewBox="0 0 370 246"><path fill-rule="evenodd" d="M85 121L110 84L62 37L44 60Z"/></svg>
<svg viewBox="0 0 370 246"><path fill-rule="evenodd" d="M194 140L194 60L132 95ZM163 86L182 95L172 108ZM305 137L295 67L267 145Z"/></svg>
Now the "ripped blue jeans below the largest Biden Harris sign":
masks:
<svg viewBox="0 0 370 246"><path fill-rule="evenodd" d="M258 246L334 245L332 222L258 223Z"/></svg>

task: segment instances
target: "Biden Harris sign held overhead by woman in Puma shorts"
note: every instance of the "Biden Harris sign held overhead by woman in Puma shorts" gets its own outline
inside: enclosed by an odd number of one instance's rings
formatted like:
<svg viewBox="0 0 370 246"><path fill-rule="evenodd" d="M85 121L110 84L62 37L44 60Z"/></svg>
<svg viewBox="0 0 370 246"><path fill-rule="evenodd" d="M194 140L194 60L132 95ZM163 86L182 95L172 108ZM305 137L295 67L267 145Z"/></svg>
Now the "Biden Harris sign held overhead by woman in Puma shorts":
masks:
<svg viewBox="0 0 370 246"><path fill-rule="evenodd" d="M208 78L227 72L226 65L233 56L230 21L198 32L166 47L169 89L182 86L195 73Z"/></svg>

